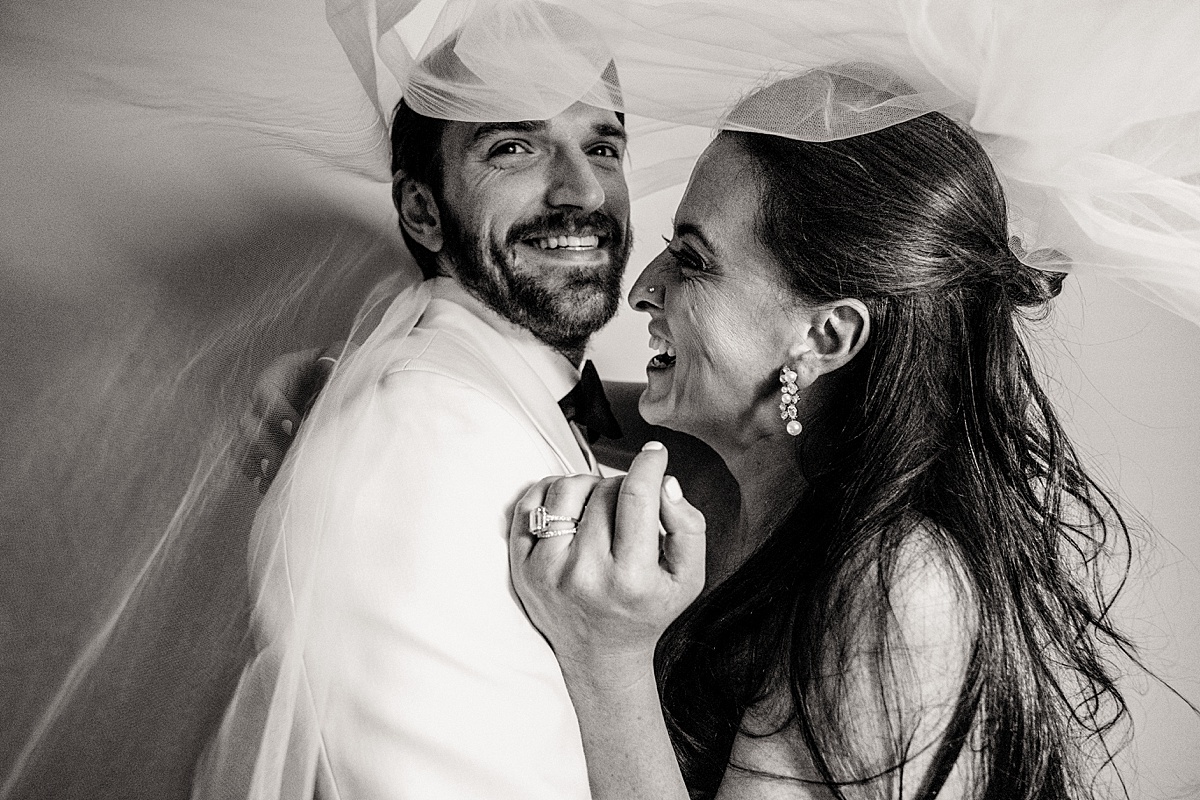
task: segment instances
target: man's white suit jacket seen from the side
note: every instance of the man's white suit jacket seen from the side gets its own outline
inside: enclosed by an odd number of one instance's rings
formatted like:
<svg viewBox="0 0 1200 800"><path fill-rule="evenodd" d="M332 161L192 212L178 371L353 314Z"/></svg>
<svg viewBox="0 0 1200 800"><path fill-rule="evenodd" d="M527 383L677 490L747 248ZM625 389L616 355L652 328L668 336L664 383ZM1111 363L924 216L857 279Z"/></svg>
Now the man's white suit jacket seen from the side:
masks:
<svg viewBox="0 0 1200 800"><path fill-rule="evenodd" d="M263 670L239 696L270 697L235 700L226 733L258 715L264 752L288 742L258 759L280 775L248 778L283 788L252 796L312 796L314 780L323 800L586 800L575 712L506 545L526 488L595 470L547 386L577 373L457 284L421 291L415 327L385 317L323 390L259 510ZM228 735L209 772L248 739Z"/></svg>

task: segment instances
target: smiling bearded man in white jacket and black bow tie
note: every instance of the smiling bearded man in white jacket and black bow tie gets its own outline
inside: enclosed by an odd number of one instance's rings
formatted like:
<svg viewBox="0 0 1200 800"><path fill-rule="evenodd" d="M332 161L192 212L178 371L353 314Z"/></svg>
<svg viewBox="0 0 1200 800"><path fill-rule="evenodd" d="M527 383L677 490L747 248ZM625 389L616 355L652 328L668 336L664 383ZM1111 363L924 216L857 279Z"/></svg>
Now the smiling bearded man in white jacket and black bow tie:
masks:
<svg viewBox="0 0 1200 800"><path fill-rule="evenodd" d="M320 720L318 795L584 800L575 715L511 594L505 539L528 486L598 474L589 439L620 435L580 366L629 255L623 119L575 103L458 122L402 102L391 138L392 197L431 299L372 390L376 428L348 437L372 446L355 451L368 479L352 488L353 545L323 567L346 584L328 609L340 648L323 657L344 668Z"/></svg>

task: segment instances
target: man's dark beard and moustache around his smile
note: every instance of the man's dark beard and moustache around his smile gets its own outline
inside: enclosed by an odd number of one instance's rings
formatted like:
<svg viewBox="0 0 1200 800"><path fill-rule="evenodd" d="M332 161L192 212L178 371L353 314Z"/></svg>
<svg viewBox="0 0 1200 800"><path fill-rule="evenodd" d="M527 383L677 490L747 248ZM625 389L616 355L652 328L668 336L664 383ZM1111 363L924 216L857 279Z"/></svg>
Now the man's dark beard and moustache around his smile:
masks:
<svg viewBox="0 0 1200 800"><path fill-rule="evenodd" d="M455 265L458 282L488 308L559 353L582 351L588 339L616 315L629 260L628 221L622 225L602 211L553 211L514 225L503 243L494 239L485 241L445 207L442 221L443 247ZM610 263L565 283L559 283L560 276L514 269L512 248L517 242L563 230L595 231L607 242Z"/></svg>

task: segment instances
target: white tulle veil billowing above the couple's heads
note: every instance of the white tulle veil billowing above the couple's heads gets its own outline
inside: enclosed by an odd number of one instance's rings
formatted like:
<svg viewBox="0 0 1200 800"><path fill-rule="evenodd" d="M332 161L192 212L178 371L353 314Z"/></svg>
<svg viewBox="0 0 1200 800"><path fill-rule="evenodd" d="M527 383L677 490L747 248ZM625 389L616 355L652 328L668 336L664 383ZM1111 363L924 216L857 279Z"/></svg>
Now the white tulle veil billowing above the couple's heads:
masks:
<svg viewBox="0 0 1200 800"><path fill-rule="evenodd" d="M1026 263L1104 273L1200 323L1200 5L1192 0L328 0L328 8L384 118L401 94L418 112L454 120L545 119L577 98L625 112L635 197L686 180L706 142L688 128L820 142L943 112L991 157ZM779 103L738 106L811 70L824 78L770 95Z"/></svg>

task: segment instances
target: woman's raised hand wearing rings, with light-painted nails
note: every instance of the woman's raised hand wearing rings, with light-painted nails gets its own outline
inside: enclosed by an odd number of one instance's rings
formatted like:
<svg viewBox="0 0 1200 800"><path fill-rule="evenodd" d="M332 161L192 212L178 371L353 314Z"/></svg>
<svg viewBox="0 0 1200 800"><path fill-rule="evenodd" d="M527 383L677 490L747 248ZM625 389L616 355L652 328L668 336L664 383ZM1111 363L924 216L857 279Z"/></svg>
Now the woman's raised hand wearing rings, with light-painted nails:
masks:
<svg viewBox="0 0 1200 800"><path fill-rule="evenodd" d="M624 479L545 479L517 504L512 583L568 682L653 669L662 631L704 585L704 517L666 467L666 450L652 441ZM538 506L578 519L577 533L538 539L529 531Z"/></svg>

